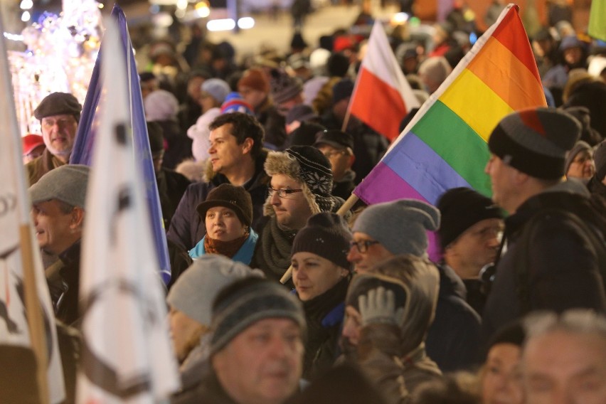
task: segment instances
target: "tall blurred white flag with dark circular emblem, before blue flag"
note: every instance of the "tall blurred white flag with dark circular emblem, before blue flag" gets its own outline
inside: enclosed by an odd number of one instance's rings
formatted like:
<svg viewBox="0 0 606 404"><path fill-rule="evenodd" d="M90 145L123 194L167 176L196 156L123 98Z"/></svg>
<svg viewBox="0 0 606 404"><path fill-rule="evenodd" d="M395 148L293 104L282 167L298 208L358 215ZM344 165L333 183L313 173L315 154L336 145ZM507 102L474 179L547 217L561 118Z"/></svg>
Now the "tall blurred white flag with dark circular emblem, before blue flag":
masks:
<svg viewBox="0 0 606 404"><path fill-rule="evenodd" d="M179 388L179 375L143 175L134 161L127 62L115 21L104 23L105 104L87 189L76 394L78 403L86 404L156 403Z"/></svg>

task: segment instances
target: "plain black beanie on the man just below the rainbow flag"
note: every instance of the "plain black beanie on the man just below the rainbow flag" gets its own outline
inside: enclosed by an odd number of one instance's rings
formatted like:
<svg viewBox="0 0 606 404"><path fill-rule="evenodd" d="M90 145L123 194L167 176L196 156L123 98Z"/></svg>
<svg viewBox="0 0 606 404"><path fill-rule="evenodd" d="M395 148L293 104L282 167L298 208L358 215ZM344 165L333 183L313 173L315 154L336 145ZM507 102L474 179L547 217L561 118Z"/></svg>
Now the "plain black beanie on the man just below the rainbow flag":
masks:
<svg viewBox="0 0 606 404"><path fill-rule="evenodd" d="M442 220L437 235L444 250L465 230L485 219L502 219L503 213L490 198L471 188L452 188L437 201Z"/></svg>

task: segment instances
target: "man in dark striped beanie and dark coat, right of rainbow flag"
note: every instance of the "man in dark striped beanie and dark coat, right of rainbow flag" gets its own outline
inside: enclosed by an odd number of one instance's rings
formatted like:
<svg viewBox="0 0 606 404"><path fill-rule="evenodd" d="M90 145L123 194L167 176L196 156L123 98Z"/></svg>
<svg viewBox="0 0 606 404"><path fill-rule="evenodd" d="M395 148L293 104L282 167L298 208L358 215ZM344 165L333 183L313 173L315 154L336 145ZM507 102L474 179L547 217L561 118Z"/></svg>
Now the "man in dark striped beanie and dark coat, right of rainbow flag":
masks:
<svg viewBox="0 0 606 404"><path fill-rule="evenodd" d="M507 115L489 137L492 200L510 216L484 309L485 339L534 310L606 310L606 220L583 183L563 179L580 132L567 113L538 107Z"/></svg>

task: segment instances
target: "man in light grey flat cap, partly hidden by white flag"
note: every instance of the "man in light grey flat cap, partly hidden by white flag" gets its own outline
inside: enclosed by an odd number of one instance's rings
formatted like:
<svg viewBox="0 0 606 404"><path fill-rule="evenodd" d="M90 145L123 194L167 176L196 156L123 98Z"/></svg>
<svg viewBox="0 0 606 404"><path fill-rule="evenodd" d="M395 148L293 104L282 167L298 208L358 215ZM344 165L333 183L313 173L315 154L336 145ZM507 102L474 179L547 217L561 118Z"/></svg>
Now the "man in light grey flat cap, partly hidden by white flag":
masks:
<svg viewBox="0 0 606 404"><path fill-rule="evenodd" d="M29 188L36 240L43 252L59 259L46 269L55 316L73 324L78 319L80 240L85 220L89 168L64 164Z"/></svg>

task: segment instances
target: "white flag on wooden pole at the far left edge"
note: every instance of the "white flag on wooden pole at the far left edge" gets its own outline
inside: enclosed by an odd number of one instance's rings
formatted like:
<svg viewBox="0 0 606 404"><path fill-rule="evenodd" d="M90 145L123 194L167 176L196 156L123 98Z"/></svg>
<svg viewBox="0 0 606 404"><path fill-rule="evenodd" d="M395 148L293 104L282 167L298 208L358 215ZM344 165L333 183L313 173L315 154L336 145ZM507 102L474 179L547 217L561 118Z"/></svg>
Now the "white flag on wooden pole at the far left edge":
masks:
<svg viewBox="0 0 606 404"><path fill-rule="evenodd" d="M4 32L0 16L0 33ZM57 344L53 306L46 285L38 243L33 237L21 158L19 134L4 37L0 38L0 344L31 346L23 290L23 253L32 256L33 272L41 308L47 349L48 394L50 403L65 399L63 368ZM27 229L29 251L23 251L21 229ZM18 363L15 363L18 365ZM15 381L18 383L18 381Z"/></svg>

